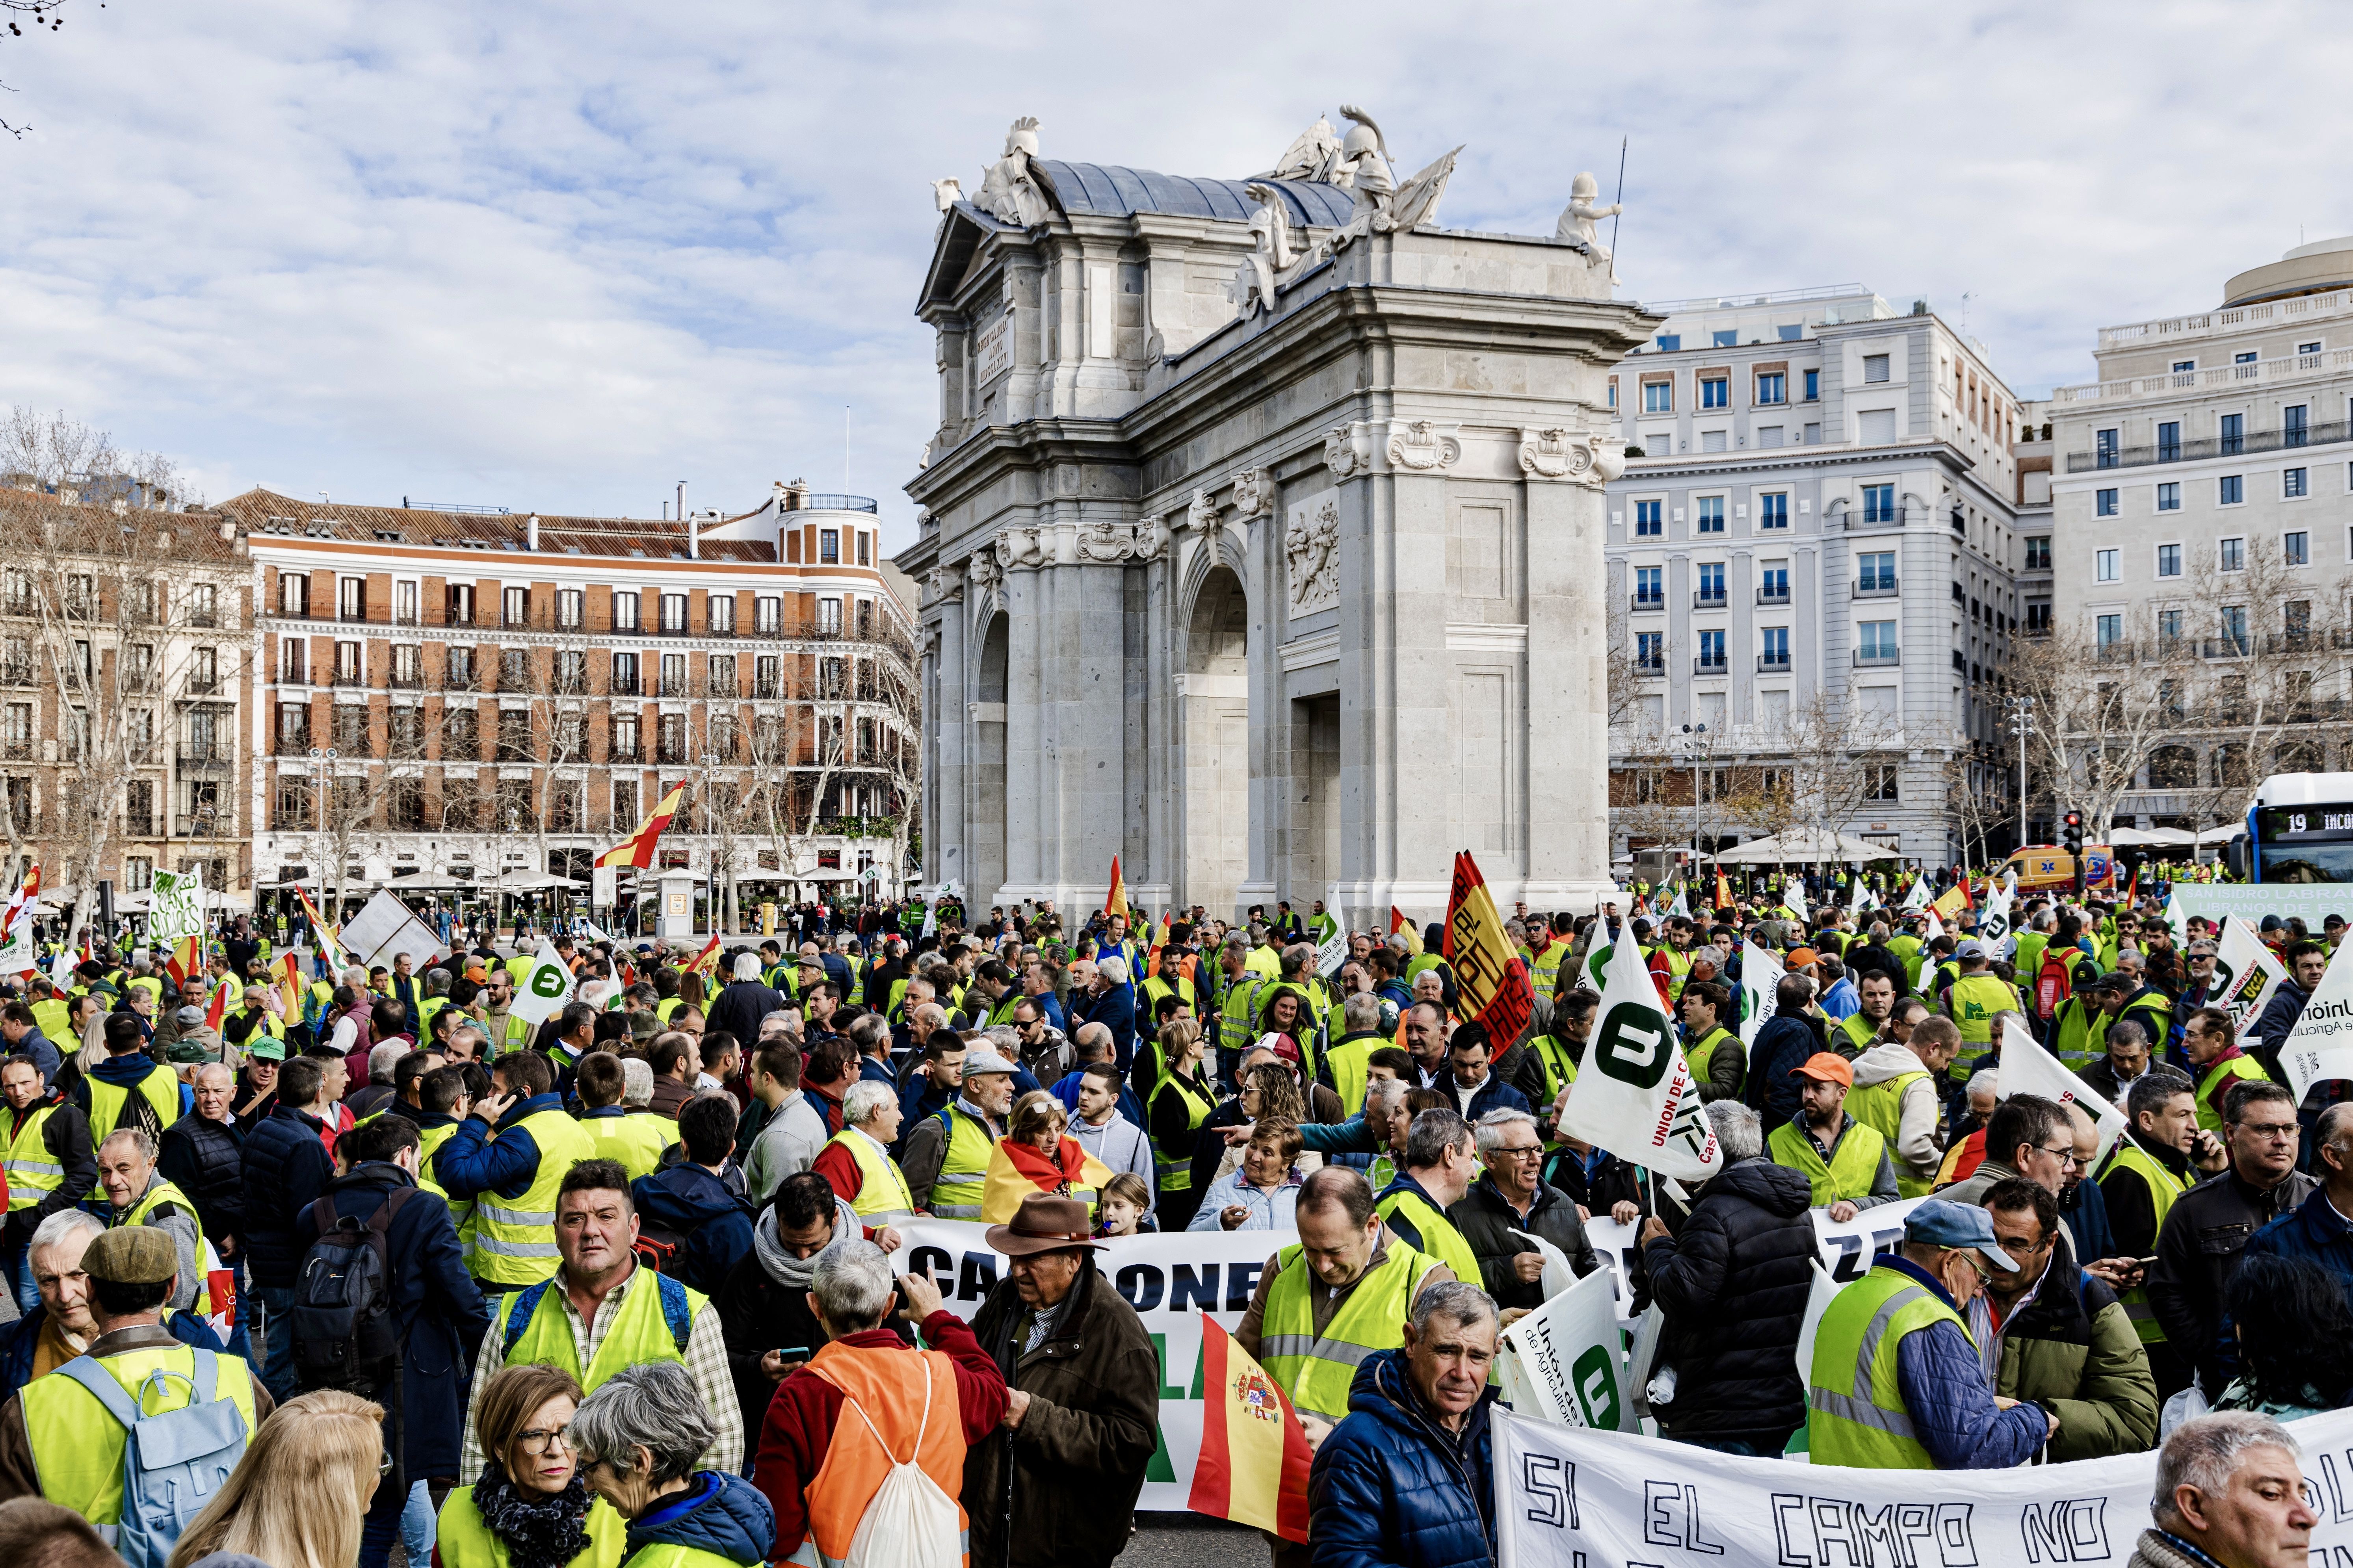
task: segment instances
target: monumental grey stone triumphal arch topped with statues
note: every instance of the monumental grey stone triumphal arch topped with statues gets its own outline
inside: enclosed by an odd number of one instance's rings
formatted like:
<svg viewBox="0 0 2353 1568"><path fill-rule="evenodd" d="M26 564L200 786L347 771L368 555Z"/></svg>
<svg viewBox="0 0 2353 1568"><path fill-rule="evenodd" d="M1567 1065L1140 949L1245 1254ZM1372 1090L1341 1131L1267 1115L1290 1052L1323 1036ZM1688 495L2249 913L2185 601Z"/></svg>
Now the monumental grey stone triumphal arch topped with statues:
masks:
<svg viewBox="0 0 2353 1568"><path fill-rule="evenodd" d="M1454 155L941 181L925 875L974 905L1442 912L1607 886L1609 301L1591 221L1435 228ZM1565 193L1567 195L1567 193Z"/></svg>

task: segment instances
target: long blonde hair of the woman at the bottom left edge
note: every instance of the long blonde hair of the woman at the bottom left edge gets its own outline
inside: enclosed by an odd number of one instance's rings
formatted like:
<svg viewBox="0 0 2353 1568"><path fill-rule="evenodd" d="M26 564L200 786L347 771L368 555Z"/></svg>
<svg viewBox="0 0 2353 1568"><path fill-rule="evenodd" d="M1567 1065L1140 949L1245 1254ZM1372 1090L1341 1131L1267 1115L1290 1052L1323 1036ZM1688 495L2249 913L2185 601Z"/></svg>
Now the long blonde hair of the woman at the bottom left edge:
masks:
<svg viewBox="0 0 2353 1568"><path fill-rule="evenodd" d="M334 1389L289 1399L254 1432L167 1568L205 1568L214 1556L254 1556L268 1568L351 1568L360 1561L367 1505L391 1465L384 1406Z"/></svg>

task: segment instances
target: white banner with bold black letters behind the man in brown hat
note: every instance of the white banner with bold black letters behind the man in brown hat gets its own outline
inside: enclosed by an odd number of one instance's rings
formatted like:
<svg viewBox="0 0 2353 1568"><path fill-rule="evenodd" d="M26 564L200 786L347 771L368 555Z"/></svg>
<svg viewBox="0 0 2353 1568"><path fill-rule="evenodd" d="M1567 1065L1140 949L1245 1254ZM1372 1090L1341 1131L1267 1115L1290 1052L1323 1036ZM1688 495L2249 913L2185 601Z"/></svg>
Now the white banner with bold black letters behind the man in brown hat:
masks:
<svg viewBox="0 0 2353 1568"><path fill-rule="evenodd" d="M929 1274L941 1305L967 1324L1005 1276L986 1225L904 1220L906 1246L892 1253L901 1274ZM1202 1314L1233 1333L1266 1260L1299 1241L1287 1229L1191 1229L1174 1237L1111 1237L1094 1255L1160 1354L1160 1448L1144 1472L1139 1509L1184 1512L1193 1497L1193 1462L1202 1441Z"/></svg>

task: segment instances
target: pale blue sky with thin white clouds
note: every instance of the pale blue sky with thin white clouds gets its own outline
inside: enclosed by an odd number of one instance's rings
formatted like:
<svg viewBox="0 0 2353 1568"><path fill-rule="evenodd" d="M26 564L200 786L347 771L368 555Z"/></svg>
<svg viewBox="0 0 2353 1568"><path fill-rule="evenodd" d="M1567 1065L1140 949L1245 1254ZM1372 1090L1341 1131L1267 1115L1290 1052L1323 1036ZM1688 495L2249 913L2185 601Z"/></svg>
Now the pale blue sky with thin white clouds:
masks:
<svg viewBox="0 0 2353 1568"><path fill-rule="evenodd" d="M1624 299L1835 282L2012 390L2353 233L2322 5L358 5L66 0L0 35L0 404L219 501L656 517L882 503L936 423L932 181L1266 169L1367 108L1438 221L1617 186ZM1965 299L1967 296L1967 299Z"/></svg>

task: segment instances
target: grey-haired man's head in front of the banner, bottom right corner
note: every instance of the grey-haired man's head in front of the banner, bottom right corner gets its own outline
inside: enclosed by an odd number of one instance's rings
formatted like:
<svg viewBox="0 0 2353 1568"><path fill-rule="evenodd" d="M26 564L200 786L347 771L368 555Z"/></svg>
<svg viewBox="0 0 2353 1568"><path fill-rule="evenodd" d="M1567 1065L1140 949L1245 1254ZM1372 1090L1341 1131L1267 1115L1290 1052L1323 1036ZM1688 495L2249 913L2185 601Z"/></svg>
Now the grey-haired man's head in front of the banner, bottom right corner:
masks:
<svg viewBox="0 0 2353 1568"><path fill-rule="evenodd" d="M2254 1410L2181 1422L2158 1450L2155 1528L2127 1568L2304 1568L2320 1516L2304 1497L2301 1453Z"/></svg>

